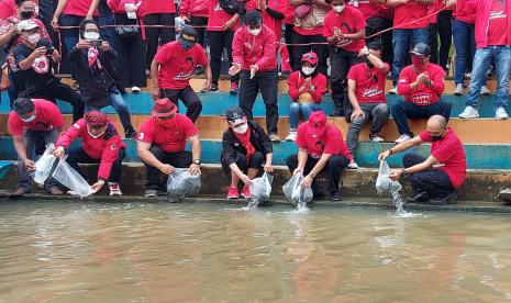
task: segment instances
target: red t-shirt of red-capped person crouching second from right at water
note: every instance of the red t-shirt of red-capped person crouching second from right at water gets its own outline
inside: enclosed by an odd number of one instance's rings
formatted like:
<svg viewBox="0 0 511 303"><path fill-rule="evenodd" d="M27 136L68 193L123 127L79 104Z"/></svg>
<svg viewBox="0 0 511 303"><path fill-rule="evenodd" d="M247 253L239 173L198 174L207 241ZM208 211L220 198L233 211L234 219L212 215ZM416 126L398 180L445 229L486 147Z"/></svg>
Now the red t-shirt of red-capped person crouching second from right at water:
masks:
<svg viewBox="0 0 511 303"><path fill-rule="evenodd" d="M323 154L342 155L347 159L352 159L352 155L347 150L347 145L343 139L343 133L332 123L326 123L326 130L319 137L313 137L309 134L309 123L302 123L298 126L297 145L300 148L307 149L309 156L314 159L321 158Z"/></svg>

